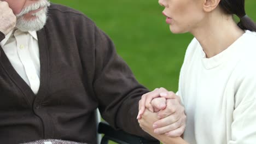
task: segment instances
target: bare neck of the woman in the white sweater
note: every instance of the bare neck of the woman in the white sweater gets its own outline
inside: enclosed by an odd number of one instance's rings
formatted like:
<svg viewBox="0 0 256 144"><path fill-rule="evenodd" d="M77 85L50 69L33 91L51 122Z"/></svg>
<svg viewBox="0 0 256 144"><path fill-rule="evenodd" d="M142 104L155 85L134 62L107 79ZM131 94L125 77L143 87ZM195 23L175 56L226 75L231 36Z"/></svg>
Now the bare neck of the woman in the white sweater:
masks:
<svg viewBox="0 0 256 144"><path fill-rule="evenodd" d="M210 58L218 55L234 43L243 33L231 15L212 14L207 17L202 25L193 29L191 33L199 41L206 57Z"/></svg>

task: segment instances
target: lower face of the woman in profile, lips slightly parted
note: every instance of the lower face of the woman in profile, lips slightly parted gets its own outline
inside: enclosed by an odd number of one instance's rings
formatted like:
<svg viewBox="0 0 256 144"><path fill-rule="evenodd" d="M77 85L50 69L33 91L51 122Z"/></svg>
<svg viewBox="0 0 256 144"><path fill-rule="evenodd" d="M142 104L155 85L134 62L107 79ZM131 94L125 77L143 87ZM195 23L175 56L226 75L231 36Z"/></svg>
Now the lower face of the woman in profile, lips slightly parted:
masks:
<svg viewBox="0 0 256 144"><path fill-rule="evenodd" d="M162 14L172 33L191 32L202 25L202 0L159 0L159 4L165 7Z"/></svg>

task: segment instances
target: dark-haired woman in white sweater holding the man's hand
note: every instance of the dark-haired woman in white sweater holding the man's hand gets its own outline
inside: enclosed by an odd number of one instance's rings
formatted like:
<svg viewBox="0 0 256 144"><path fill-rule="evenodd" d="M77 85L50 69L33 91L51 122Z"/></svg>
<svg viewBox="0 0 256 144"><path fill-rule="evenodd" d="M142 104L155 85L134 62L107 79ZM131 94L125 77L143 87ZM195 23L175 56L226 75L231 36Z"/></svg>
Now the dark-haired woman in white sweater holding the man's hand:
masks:
<svg viewBox="0 0 256 144"><path fill-rule="evenodd" d="M177 95L187 114L183 139L153 133L156 113L139 123L164 143L256 142L256 26L245 0L159 0L172 33L190 32ZM233 15L240 18L237 23ZM160 97L160 96L159 96Z"/></svg>

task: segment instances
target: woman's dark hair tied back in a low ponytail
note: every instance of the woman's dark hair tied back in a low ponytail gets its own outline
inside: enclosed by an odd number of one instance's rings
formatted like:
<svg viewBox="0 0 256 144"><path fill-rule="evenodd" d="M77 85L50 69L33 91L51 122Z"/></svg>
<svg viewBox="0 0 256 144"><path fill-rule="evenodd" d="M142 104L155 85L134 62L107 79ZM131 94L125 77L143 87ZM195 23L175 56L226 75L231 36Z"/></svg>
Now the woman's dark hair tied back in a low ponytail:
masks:
<svg viewBox="0 0 256 144"><path fill-rule="evenodd" d="M239 17L240 22L237 25L241 29L256 32L256 24L246 15L245 0L220 0L219 6L224 10L224 13Z"/></svg>

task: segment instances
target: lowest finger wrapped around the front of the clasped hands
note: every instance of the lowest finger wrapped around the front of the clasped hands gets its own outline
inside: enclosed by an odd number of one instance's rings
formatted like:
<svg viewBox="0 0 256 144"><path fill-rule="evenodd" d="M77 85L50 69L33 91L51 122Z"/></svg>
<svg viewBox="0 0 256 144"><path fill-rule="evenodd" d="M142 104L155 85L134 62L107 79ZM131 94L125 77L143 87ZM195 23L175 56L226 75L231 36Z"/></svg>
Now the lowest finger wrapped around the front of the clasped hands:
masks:
<svg viewBox="0 0 256 144"><path fill-rule="evenodd" d="M182 121L182 119L179 119L177 122L169 124L169 125L166 125L165 127L156 128L156 129L154 129L154 133L155 134L166 134L169 131L176 130L179 127L182 126L181 125L181 123L182 123L181 121Z"/></svg>

